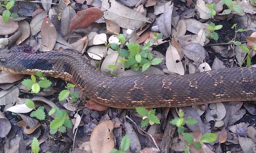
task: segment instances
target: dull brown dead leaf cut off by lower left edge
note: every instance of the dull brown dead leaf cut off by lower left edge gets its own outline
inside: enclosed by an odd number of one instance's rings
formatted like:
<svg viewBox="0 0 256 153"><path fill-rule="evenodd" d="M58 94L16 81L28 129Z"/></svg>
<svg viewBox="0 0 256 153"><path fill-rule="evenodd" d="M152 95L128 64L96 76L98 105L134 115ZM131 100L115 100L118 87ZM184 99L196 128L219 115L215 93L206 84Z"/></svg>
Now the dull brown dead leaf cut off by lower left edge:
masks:
<svg viewBox="0 0 256 153"><path fill-rule="evenodd" d="M1 138L5 138L8 133L10 132L11 130L11 123L9 122L9 120L5 117L5 114L3 114L1 111L0 111L0 137Z"/></svg>

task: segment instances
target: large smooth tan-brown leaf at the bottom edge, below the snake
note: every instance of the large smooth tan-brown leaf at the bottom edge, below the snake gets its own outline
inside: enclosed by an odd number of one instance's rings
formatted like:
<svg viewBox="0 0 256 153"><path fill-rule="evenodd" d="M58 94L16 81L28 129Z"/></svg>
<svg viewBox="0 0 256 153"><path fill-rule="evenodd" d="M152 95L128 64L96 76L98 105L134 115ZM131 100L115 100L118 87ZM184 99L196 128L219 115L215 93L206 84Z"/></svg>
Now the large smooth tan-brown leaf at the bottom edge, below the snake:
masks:
<svg viewBox="0 0 256 153"><path fill-rule="evenodd" d="M114 149L114 124L111 120L101 122L92 131L90 136L90 149L92 152L110 152Z"/></svg>

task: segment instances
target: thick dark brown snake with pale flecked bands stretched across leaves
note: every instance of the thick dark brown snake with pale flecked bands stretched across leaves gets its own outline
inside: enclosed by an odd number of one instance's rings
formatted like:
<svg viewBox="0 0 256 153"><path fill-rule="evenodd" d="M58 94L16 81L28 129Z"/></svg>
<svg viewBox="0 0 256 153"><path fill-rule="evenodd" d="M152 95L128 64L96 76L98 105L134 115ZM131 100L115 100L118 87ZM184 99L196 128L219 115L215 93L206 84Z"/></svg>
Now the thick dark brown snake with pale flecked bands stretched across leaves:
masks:
<svg viewBox="0 0 256 153"><path fill-rule="evenodd" d="M226 68L188 75L105 75L72 50L29 53L18 46L0 51L0 70L73 82L89 98L114 108L178 107L256 100L256 68Z"/></svg>

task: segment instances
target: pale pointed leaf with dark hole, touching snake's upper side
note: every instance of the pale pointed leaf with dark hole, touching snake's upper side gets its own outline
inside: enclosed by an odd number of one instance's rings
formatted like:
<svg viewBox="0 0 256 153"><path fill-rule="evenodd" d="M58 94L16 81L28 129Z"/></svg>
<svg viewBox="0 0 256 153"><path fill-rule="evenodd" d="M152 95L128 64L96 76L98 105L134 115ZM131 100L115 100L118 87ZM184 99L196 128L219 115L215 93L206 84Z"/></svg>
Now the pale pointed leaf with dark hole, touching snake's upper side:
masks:
<svg viewBox="0 0 256 153"><path fill-rule="evenodd" d="M178 50L170 44L166 51L166 66L167 68L175 73L184 75L184 67L181 62L182 57L178 53Z"/></svg>

